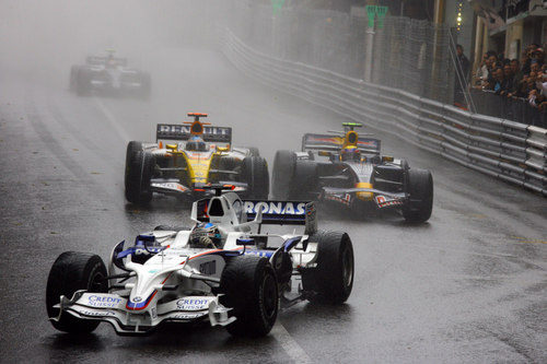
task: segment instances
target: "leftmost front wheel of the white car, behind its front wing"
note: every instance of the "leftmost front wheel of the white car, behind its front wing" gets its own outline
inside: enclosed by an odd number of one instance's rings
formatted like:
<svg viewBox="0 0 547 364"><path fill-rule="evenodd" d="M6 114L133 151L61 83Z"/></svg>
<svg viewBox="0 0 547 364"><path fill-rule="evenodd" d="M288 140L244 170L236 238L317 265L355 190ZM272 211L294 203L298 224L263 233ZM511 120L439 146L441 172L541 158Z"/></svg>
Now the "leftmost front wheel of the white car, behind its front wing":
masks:
<svg viewBox="0 0 547 364"><path fill-rule="evenodd" d="M106 277L106 267L100 256L77 251L61 254L54 262L47 279L47 315L50 318L59 316L59 308L54 308L54 306L59 304L61 295L72 298L79 290L107 293ZM57 330L66 332L91 332L100 324L96 320L81 319L68 313L61 314L58 321L50 321Z"/></svg>

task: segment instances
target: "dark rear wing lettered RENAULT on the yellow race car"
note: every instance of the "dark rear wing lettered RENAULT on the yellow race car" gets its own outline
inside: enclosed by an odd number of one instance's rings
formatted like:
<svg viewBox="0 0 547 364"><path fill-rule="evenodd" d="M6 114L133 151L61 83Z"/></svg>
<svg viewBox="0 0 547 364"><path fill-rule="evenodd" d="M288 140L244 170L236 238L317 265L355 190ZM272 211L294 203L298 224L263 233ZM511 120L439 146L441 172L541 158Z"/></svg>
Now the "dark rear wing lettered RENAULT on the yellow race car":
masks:
<svg viewBox="0 0 547 364"><path fill-rule="evenodd" d="M159 140L189 140L193 137L191 126L176 124L159 124L155 131L155 141ZM232 128L203 126L200 137L206 142L232 143Z"/></svg>

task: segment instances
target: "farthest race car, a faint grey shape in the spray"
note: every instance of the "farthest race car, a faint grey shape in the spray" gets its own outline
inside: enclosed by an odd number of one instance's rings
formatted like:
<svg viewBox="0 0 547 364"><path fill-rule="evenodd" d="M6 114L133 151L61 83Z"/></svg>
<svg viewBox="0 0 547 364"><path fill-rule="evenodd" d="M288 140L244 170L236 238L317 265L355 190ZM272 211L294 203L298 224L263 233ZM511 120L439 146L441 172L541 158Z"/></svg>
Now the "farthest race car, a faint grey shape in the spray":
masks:
<svg viewBox="0 0 547 364"><path fill-rule="evenodd" d="M74 64L70 70L70 90L79 96L92 93L127 95L148 98L151 91L150 74L127 68L126 58L90 56L85 64Z"/></svg>

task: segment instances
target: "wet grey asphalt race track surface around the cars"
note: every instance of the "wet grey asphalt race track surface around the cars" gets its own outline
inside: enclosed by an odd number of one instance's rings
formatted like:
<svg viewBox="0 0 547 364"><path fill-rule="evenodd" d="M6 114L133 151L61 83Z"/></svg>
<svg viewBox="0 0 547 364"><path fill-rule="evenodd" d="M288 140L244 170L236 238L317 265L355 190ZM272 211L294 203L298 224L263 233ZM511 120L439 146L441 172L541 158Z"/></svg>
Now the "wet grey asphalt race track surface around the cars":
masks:
<svg viewBox="0 0 547 364"><path fill-rule="evenodd" d="M124 198L129 140L153 140L155 124L209 113L232 126L234 144L258 146L271 167L279 149L340 117L274 92L213 51L156 54L149 102L78 97L55 85L0 75L0 362L547 362L546 199L376 132L386 154L434 177L429 223L323 210L319 228L347 231L356 253L353 292L342 306L301 303L259 340L202 326L118 337L47 320L49 268L66 250L103 259L159 224L189 224L188 206L160 197L149 209ZM199 59L199 62L194 61ZM160 62L160 60L162 60ZM164 61L168 60L167 63ZM153 70L153 68L152 68Z"/></svg>

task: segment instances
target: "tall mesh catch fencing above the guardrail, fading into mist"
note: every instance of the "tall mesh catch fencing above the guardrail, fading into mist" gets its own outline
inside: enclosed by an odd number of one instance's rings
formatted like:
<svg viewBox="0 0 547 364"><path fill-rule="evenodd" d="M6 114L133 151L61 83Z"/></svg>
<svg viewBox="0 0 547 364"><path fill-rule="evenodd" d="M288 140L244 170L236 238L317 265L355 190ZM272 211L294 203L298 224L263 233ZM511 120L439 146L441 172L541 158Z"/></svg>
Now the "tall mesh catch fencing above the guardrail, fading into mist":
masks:
<svg viewBox="0 0 547 364"><path fill-rule="evenodd" d="M373 83L452 103L454 64L446 25L388 15L382 25L376 21L369 37L364 8L351 14L295 5L272 12L258 1L223 0L217 9L219 22L258 51L365 79L372 50Z"/></svg>

